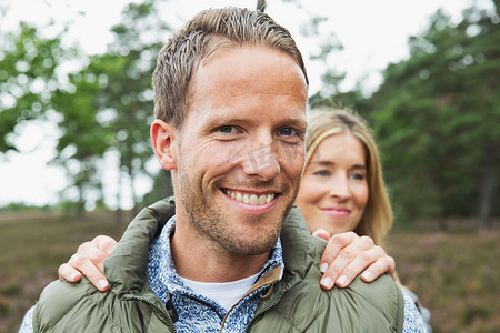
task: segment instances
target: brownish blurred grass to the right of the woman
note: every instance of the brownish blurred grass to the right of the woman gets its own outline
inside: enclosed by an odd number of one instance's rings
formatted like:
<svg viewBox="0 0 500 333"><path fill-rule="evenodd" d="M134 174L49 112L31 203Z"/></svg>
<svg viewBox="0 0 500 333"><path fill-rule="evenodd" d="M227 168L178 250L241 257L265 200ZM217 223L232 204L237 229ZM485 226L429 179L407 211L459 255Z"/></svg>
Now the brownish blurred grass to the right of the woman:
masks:
<svg viewBox="0 0 500 333"><path fill-rule="evenodd" d="M500 231L393 232L401 281L431 311L434 332L500 332Z"/></svg>

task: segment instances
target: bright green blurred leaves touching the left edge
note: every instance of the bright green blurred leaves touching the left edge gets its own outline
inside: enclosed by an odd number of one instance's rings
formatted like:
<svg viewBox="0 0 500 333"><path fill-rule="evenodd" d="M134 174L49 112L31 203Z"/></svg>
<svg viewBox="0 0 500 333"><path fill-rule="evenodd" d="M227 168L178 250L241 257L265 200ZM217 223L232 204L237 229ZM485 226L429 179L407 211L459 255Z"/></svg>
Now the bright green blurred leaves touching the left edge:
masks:
<svg viewBox="0 0 500 333"><path fill-rule="evenodd" d="M42 117L61 85L58 67L74 56L60 37L44 38L21 22L17 32L0 32L0 154L17 150L16 127Z"/></svg>

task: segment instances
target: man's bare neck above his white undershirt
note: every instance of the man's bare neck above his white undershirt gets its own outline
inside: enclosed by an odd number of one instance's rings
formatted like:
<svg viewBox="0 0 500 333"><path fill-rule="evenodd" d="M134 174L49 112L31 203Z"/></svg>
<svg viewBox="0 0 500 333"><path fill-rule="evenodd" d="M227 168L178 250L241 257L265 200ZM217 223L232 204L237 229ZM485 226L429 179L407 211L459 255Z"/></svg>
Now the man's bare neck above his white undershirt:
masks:
<svg viewBox="0 0 500 333"><path fill-rule="evenodd" d="M180 222L180 223L179 223ZM230 282L259 273L271 251L258 255L231 253L201 235L191 223L176 222L170 249L178 274L198 282Z"/></svg>

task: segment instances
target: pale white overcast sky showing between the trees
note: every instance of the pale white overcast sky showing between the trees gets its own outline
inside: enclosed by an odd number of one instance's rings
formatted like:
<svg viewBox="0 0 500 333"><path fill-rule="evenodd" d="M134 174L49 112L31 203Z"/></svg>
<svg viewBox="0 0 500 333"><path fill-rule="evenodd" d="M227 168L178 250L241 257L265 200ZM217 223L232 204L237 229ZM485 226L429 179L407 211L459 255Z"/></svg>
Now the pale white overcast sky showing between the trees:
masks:
<svg viewBox="0 0 500 333"><path fill-rule="evenodd" d="M12 31L21 20L43 24L53 20L54 31L61 22L71 21L68 43L78 42L88 53L102 53L112 41L109 28L120 21L120 11L124 0L0 0L0 9L7 9L7 16L0 21L1 31ZM180 27L194 13L210 7L238 6L253 8L257 0L170 0L162 8L162 17L174 27ZM362 82L363 89L373 91L381 81L380 71L388 63L408 57L409 36L419 34L427 28L430 16L442 8L456 21L461 11L476 2L490 9L490 0L298 0L303 7L268 0L267 12L280 24L290 30L299 49L306 58L306 67L311 81L310 93L319 90L322 68L308 61L308 54L317 47L310 39L299 33L299 23L303 23L307 12L328 18L322 34L333 32L343 46L341 53L330 59L330 65L346 72L344 89ZM50 7L48 6L50 3ZM30 10L27 10L27 9ZM163 14L164 12L164 14ZM1 17L0 17L1 18ZM59 24L59 26L58 26ZM52 31L47 30L50 34ZM54 157L57 128L50 122L33 122L18 129L21 153L8 153L8 161L0 160L0 206L9 202L27 204L53 204L58 192L66 185L64 172L49 165ZM2 133L1 133L2 134ZM110 155L107 165L113 164ZM154 167L152 167L154 168ZM104 168L104 196L107 203L113 201L117 189L117 174ZM150 189L150 183L139 180L140 194ZM123 193L122 208L130 208L129 193Z"/></svg>

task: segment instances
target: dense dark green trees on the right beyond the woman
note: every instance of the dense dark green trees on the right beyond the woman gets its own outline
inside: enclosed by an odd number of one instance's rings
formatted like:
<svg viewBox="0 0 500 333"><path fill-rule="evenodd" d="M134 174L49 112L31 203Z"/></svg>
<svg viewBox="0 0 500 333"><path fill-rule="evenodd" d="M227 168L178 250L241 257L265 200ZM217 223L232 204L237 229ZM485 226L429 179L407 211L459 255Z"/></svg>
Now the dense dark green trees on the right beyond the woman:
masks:
<svg viewBox="0 0 500 333"><path fill-rule="evenodd" d="M498 200L499 21L471 8L453 26L438 11L369 100L402 218L472 215Z"/></svg>

